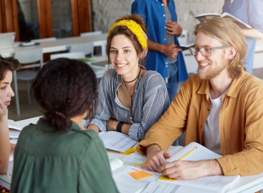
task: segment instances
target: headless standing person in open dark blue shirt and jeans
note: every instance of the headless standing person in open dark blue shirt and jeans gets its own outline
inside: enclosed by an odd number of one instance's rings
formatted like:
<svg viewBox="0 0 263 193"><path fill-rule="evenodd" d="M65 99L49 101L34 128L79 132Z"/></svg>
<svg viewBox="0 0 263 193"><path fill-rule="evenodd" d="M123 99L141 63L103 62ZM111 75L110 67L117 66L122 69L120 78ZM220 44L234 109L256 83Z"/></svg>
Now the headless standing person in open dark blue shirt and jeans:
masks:
<svg viewBox="0 0 263 193"><path fill-rule="evenodd" d="M148 31L146 68L158 71L167 83L170 102L177 94L178 81L185 81L187 71L177 36L182 28L177 24L172 0L135 0L132 14L140 14Z"/></svg>

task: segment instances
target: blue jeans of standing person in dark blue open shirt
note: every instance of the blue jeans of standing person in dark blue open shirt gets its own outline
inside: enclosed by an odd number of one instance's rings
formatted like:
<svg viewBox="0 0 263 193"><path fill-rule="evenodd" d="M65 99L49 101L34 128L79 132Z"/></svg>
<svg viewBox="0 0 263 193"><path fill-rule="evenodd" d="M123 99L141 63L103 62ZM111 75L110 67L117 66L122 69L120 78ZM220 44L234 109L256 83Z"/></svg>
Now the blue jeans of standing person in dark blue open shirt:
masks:
<svg viewBox="0 0 263 193"><path fill-rule="evenodd" d="M178 61L168 64L168 85L167 91L170 102L175 98L178 89Z"/></svg>

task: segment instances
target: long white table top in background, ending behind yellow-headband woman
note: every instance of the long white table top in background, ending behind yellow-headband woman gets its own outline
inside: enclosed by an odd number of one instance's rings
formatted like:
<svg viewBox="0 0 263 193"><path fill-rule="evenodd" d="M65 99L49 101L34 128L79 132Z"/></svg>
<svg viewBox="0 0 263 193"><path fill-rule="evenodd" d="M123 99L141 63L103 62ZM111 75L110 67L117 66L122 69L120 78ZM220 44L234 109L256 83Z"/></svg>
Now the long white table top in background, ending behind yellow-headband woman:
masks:
<svg viewBox="0 0 263 193"><path fill-rule="evenodd" d="M42 41L38 46L16 46L13 49L0 49L0 54L3 57L14 56L14 51L33 49L41 46L43 53L51 53L56 51L66 51L69 49L71 44L80 44L91 41L105 41L108 34L97 34L93 36L74 36L69 38L61 38L52 41ZM96 46L96 45L95 45Z"/></svg>

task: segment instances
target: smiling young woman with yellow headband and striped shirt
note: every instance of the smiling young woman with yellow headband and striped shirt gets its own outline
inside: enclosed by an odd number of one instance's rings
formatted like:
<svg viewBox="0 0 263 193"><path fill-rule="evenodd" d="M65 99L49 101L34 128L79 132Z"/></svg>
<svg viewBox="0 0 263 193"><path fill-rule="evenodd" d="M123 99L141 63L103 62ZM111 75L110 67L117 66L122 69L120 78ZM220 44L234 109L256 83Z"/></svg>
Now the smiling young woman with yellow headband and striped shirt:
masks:
<svg viewBox="0 0 263 193"><path fill-rule="evenodd" d="M126 15L115 21L108 32L106 53L113 69L101 79L96 117L84 127L122 132L139 142L170 105L163 77L139 64L147 54L140 16Z"/></svg>

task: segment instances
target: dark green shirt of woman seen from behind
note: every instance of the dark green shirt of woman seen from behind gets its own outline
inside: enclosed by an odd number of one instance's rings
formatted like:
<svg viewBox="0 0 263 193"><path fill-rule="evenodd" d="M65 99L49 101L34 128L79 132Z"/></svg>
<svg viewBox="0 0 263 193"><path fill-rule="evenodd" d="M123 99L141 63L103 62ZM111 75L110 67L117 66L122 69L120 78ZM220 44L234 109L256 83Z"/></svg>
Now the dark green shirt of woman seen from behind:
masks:
<svg viewBox="0 0 263 193"><path fill-rule="evenodd" d="M103 142L75 122L67 132L45 119L25 127L16 144L11 192L118 192Z"/></svg>

